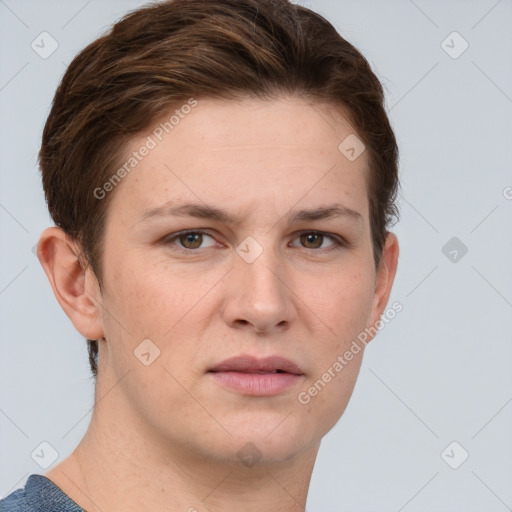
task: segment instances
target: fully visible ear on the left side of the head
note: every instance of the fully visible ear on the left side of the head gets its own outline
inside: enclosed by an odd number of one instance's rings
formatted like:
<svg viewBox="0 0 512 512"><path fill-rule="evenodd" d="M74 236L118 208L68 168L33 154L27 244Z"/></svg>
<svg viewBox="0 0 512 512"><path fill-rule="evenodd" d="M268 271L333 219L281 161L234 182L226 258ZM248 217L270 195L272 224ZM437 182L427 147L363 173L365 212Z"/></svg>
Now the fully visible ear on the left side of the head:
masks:
<svg viewBox="0 0 512 512"><path fill-rule="evenodd" d="M101 291L80 253L79 245L57 227L45 229L37 245L37 257L61 308L82 336L97 340L104 336Z"/></svg>

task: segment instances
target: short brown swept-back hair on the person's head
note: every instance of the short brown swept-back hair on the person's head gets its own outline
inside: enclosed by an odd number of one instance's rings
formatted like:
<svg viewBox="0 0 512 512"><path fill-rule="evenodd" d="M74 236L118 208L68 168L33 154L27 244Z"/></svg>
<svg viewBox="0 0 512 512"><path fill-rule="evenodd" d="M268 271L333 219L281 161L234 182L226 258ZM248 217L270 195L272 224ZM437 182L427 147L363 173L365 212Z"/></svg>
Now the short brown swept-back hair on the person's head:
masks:
<svg viewBox="0 0 512 512"><path fill-rule="evenodd" d="M101 286L101 187L133 136L194 98L281 94L344 107L369 154L376 265L397 218L398 149L367 60L319 14L288 0L174 0L127 14L71 62L39 164L50 214L79 242ZM341 142L341 141L340 141ZM98 344L88 340L97 376Z"/></svg>

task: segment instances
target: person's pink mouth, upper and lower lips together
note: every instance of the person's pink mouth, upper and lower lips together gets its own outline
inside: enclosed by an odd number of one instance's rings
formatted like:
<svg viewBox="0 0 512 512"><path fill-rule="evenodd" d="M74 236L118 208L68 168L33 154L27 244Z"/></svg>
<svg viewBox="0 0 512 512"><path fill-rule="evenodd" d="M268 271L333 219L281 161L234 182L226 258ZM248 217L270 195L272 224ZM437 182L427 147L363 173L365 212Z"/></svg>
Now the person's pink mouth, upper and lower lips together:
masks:
<svg viewBox="0 0 512 512"><path fill-rule="evenodd" d="M208 373L221 385L249 396L274 396L303 380L300 367L282 356L263 359L250 355L222 361Z"/></svg>

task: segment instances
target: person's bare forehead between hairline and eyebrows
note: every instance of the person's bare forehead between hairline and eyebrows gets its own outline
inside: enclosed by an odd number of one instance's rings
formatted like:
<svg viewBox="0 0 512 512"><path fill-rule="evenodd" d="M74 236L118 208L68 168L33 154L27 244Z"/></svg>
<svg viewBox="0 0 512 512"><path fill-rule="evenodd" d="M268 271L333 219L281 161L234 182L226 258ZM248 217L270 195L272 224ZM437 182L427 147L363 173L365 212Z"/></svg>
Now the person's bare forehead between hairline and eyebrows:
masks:
<svg viewBox="0 0 512 512"><path fill-rule="evenodd" d="M255 213L262 208L260 215L299 201L345 200L348 208L366 210L367 155L350 160L340 151L351 137L354 128L332 105L197 100L130 141L125 162L136 165L111 207L132 218L175 199L231 205L240 213L244 205Z"/></svg>

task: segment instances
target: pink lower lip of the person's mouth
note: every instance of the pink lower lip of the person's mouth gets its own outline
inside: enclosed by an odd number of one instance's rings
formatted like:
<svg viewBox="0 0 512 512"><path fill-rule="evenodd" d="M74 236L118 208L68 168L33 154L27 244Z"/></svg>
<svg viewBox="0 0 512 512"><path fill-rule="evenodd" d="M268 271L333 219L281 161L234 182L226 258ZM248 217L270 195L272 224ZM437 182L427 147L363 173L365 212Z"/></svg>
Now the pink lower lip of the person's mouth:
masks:
<svg viewBox="0 0 512 512"><path fill-rule="evenodd" d="M293 373L210 372L224 386L243 395L273 396L302 381L302 375Z"/></svg>

